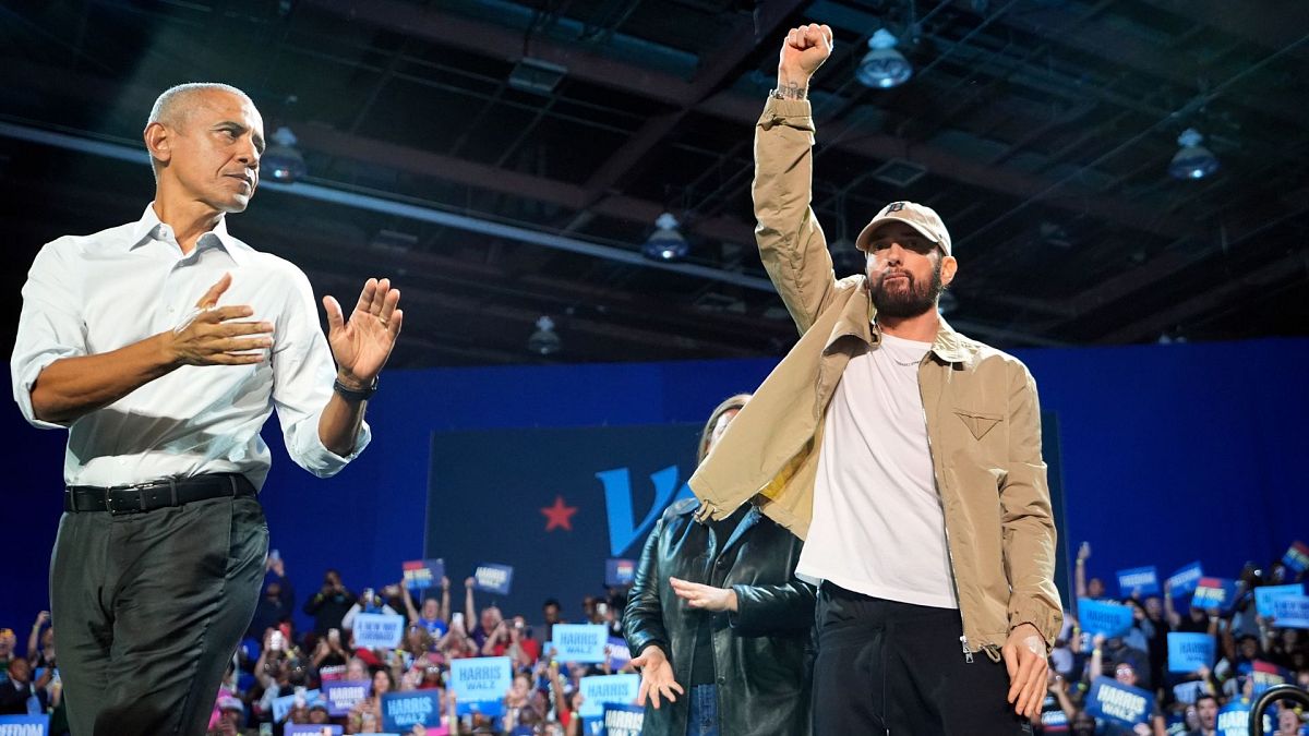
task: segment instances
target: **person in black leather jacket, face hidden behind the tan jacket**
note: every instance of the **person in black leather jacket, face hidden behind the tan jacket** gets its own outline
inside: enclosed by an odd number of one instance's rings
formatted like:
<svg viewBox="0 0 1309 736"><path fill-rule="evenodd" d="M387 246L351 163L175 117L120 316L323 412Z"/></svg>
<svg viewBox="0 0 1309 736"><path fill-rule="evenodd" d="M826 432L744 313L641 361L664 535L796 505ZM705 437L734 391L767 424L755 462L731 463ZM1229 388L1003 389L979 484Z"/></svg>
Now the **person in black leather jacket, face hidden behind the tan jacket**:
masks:
<svg viewBox="0 0 1309 736"><path fill-rule="evenodd" d="M749 398L713 410L698 460ZM806 735L814 589L795 578L801 542L753 504L708 524L698 506L675 502L654 524L623 613L649 698L641 732Z"/></svg>

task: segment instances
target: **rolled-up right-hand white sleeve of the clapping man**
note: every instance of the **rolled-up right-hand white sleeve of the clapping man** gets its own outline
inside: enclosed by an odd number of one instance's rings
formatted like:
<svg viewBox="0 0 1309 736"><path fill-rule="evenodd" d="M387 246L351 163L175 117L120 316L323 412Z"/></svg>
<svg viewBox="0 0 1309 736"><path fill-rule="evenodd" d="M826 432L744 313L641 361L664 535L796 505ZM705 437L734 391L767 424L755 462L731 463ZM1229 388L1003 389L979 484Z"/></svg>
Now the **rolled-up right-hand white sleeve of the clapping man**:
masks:
<svg viewBox="0 0 1309 736"><path fill-rule="evenodd" d="M287 305L274 333L272 401L291 458L314 475L329 478L359 457L373 433L367 422L360 423L355 449L348 456L323 447L318 420L331 399L336 364L318 325L309 279L289 263L287 270Z"/></svg>

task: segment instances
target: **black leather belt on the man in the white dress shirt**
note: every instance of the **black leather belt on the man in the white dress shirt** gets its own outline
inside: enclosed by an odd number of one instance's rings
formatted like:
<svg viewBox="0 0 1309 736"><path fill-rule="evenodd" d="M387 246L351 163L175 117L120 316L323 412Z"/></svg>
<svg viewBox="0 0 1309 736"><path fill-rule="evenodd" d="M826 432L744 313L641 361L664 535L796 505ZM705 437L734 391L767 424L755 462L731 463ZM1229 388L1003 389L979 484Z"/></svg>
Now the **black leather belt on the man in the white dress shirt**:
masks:
<svg viewBox="0 0 1309 736"><path fill-rule="evenodd" d="M216 498L254 498L258 491L240 473L213 473L192 478L169 478L135 486L68 486L64 488L64 511L107 511L113 516L145 513Z"/></svg>

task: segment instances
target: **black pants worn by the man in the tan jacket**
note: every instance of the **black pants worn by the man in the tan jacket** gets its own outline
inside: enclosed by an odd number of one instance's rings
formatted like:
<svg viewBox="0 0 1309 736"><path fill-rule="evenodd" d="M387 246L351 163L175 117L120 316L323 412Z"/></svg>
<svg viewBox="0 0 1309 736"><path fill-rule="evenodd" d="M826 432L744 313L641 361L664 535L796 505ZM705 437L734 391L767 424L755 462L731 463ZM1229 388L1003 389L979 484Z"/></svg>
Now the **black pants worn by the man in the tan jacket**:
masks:
<svg viewBox="0 0 1309 736"><path fill-rule="evenodd" d="M1031 733L1004 664L963 657L959 612L823 583L816 609L814 736Z"/></svg>

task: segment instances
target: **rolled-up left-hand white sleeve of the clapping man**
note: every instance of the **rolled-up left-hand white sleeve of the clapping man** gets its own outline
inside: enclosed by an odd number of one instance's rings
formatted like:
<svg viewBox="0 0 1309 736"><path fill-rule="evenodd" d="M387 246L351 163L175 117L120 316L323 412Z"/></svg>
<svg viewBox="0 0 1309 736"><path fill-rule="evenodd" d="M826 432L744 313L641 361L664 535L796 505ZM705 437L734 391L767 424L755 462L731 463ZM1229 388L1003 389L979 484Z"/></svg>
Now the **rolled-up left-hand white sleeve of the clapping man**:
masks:
<svg viewBox="0 0 1309 736"><path fill-rule="evenodd" d="M81 276L73 263L77 258L79 250L72 238L46 244L27 271L27 283L22 285L22 312L9 359L9 380L22 416L42 430L63 430L67 426L37 418L31 406L37 378L51 363L88 352L79 285Z"/></svg>

